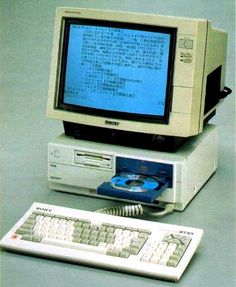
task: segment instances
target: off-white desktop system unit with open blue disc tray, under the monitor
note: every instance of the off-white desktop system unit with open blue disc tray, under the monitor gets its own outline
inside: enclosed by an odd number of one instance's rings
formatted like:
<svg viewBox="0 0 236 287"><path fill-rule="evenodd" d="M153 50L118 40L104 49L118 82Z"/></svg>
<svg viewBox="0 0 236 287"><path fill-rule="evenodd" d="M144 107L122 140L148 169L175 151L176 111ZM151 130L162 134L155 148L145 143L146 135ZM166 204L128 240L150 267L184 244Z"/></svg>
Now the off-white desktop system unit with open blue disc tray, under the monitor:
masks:
<svg viewBox="0 0 236 287"><path fill-rule="evenodd" d="M154 208L171 203L175 210L183 210L217 168L216 130L208 125L175 153L123 148L63 134L48 145L48 181L54 190L142 202ZM126 188L124 182L123 188L112 187L112 178L120 181L127 175L130 179L130 174L139 176L133 182L145 176L146 188L137 184Z"/></svg>

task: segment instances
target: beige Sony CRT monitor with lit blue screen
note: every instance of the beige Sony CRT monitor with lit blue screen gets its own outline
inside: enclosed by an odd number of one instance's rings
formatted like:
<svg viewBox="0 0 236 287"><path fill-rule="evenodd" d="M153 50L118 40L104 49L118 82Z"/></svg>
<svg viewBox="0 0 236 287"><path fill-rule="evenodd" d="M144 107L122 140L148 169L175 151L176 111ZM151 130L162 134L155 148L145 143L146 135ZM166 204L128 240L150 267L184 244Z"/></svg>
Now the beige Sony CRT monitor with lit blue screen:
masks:
<svg viewBox="0 0 236 287"><path fill-rule="evenodd" d="M197 135L224 93L226 41L207 20L58 8L48 115L88 130Z"/></svg>

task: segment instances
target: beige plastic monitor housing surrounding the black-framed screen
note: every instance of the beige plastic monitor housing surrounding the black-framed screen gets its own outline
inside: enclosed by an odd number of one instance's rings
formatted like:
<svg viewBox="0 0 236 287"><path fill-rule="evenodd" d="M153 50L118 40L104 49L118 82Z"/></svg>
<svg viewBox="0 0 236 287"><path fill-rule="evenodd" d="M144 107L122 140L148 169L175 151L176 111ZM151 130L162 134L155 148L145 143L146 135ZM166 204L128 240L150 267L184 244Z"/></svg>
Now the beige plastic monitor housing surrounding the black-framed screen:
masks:
<svg viewBox="0 0 236 287"><path fill-rule="evenodd" d="M177 28L173 95L168 124L105 118L56 108L65 18L101 19ZM204 119L216 109L215 106L204 115L207 75L219 66L222 66L221 90L224 89L226 43L227 34L212 28L211 23L203 19L82 8L57 8L47 115L62 121L102 128L180 137L197 135L203 130ZM113 124L114 122L116 125Z"/></svg>

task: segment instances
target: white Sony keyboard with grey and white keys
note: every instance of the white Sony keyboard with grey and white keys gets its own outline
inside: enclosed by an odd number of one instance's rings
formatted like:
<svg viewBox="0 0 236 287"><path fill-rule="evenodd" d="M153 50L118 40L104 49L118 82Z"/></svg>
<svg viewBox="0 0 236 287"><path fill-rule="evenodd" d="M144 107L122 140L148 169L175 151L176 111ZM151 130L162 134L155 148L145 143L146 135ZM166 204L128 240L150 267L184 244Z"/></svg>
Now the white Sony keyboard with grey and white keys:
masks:
<svg viewBox="0 0 236 287"><path fill-rule="evenodd" d="M33 203L2 248L178 281L203 230Z"/></svg>

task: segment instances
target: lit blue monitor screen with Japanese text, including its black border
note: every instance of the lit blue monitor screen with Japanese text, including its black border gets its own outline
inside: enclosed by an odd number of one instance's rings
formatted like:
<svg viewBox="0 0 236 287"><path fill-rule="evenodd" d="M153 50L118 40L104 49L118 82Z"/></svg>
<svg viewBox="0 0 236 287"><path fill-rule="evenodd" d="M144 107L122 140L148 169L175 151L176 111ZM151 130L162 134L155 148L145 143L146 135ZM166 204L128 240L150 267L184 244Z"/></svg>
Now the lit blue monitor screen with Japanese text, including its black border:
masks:
<svg viewBox="0 0 236 287"><path fill-rule="evenodd" d="M175 29L66 19L57 108L168 122Z"/></svg>

